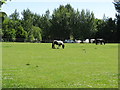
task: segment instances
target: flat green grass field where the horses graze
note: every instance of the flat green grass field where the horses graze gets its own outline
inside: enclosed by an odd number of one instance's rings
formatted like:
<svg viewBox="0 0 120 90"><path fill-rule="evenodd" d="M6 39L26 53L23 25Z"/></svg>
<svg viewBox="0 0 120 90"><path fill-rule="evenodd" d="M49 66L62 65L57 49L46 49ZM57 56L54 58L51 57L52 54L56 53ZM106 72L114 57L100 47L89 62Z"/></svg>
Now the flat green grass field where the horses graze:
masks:
<svg viewBox="0 0 120 90"><path fill-rule="evenodd" d="M2 51L3 88L118 88L117 44L3 43Z"/></svg>

